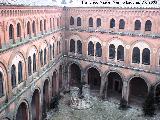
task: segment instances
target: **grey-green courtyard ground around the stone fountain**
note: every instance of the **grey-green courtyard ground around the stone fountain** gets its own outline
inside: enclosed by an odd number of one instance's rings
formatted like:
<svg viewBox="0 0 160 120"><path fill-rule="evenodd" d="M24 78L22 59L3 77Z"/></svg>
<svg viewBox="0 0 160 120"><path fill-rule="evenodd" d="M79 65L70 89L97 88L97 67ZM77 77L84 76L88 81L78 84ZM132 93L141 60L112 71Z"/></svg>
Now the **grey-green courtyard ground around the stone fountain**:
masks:
<svg viewBox="0 0 160 120"><path fill-rule="evenodd" d="M59 111L50 111L47 120L160 120L160 115L144 117L141 109L135 107L119 110L115 102L102 101L93 97L93 106L85 110L75 110L68 105L69 94L60 100Z"/></svg>

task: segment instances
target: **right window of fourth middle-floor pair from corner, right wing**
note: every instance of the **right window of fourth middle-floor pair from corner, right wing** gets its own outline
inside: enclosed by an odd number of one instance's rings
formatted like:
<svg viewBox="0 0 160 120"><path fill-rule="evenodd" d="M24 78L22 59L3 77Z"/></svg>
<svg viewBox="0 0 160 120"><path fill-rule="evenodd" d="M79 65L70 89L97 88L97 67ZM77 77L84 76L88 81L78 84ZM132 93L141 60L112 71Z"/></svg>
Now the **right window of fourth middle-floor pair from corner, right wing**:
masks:
<svg viewBox="0 0 160 120"><path fill-rule="evenodd" d="M148 48L143 49L142 64L150 65L150 50Z"/></svg>

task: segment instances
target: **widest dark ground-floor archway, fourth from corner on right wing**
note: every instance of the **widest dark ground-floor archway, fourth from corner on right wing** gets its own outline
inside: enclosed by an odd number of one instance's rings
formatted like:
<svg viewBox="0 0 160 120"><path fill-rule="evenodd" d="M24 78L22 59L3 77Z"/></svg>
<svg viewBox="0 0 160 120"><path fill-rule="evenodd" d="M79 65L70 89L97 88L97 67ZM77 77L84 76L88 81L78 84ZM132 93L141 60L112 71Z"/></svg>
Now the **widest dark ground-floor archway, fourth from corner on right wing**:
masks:
<svg viewBox="0 0 160 120"><path fill-rule="evenodd" d="M129 83L129 103L142 104L147 97L148 86L144 79L134 77Z"/></svg>

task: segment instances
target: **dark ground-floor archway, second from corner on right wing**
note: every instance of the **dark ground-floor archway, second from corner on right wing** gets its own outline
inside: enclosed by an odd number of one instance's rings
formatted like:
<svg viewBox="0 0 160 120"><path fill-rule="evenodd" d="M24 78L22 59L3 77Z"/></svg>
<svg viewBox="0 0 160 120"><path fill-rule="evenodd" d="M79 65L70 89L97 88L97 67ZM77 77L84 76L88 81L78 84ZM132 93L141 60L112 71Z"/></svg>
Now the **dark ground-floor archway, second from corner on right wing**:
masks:
<svg viewBox="0 0 160 120"><path fill-rule="evenodd" d="M92 91L100 91L101 86L101 76L96 68L88 69L88 84Z"/></svg>

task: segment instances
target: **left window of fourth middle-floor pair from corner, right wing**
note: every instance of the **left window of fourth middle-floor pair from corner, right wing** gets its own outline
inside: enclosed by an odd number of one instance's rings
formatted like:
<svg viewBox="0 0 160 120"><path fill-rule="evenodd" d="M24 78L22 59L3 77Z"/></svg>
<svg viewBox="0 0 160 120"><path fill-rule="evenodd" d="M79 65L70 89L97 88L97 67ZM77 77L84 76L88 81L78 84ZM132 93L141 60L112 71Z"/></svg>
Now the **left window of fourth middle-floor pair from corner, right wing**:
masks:
<svg viewBox="0 0 160 120"><path fill-rule="evenodd" d="M140 63L140 49L138 47L133 48L132 63Z"/></svg>

